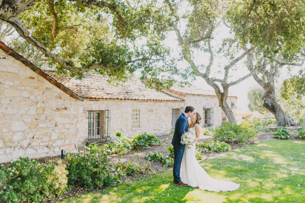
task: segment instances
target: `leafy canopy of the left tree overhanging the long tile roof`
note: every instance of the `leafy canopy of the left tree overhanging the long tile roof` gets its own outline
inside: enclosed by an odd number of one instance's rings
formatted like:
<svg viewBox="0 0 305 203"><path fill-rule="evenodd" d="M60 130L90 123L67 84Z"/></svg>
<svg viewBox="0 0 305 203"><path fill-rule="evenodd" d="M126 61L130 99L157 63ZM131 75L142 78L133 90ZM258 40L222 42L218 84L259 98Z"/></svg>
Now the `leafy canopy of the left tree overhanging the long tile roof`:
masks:
<svg viewBox="0 0 305 203"><path fill-rule="evenodd" d="M173 24L167 13L156 0L0 1L0 19L50 58L58 72L81 77L94 71L124 80L140 70L157 86L185 75L162 43Z"/></svg>

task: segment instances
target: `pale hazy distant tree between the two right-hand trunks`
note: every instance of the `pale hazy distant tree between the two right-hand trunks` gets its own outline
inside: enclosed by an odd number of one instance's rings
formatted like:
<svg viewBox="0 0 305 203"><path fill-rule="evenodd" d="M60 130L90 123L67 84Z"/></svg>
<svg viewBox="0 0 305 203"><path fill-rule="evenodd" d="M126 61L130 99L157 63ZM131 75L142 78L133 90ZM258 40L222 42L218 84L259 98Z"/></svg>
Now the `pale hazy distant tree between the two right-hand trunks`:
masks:
<svg viewBox="0 0 305 203"><path fill-rule="evenodd" d="M261 114L267 114L269 111L263 106L263 94L262 88L251 88L248 92L249 105L248 108L251 111L258 111Z"/></svg>

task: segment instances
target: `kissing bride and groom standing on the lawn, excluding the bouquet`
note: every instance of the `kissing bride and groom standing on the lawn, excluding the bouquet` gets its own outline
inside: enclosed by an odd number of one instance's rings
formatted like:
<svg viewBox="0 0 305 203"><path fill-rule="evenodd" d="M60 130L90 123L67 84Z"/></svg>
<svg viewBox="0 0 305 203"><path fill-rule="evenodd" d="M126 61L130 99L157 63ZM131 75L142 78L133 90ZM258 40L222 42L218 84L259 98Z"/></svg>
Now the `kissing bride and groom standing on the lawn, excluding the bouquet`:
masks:
<svg viewBox="0 0 305 203"><path fill-rule="evenodd" d="M185 107L182 113L176 120L175 131L172 140L174 146L174 184L180 186L199 187L200 190L208 191L232 191L239 188L239 184L224 180L215 180L210 177L206 171L199 165L196 160L195 143L201 135L201 116L198 112L194 112L194 107ZM191 122L188 122L188 117ZM181 136L188 132L193 135L194 141L190 144L183 144Z"/></svg>

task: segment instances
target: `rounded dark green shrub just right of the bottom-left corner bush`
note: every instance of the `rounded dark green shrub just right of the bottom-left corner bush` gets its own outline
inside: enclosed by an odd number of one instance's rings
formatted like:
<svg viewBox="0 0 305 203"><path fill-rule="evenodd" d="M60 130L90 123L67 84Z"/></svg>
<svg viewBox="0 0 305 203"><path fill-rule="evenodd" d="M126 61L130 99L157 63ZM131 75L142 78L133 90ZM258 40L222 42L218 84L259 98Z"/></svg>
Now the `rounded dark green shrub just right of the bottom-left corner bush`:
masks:
<svg viewBox="0 0 305 203"><path fill-rule="evenodd" d="M84 184L87 189L102 186L109 172L107 154L95 144L85 149L86 151L80 154L67 153L68 181L70 184Z"/></svg>

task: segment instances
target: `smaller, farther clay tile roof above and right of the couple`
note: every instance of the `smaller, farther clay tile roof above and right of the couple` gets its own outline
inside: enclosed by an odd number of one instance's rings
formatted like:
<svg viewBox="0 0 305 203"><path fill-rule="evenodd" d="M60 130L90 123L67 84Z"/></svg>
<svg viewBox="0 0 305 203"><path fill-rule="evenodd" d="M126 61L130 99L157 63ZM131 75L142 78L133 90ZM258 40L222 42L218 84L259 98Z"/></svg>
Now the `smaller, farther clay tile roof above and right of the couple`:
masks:
<svg viewBox="0 0 305 203"><path fill-rule="evenodd" d="M166 90L178 95L188 94L188 95L216 96L216 93L213 90L202 89L194 85L190 87L188 86L181 87L179 82L176 82L170 89L166 89ZM236 97L236 96L230 96L230 97Z"/></svg>

